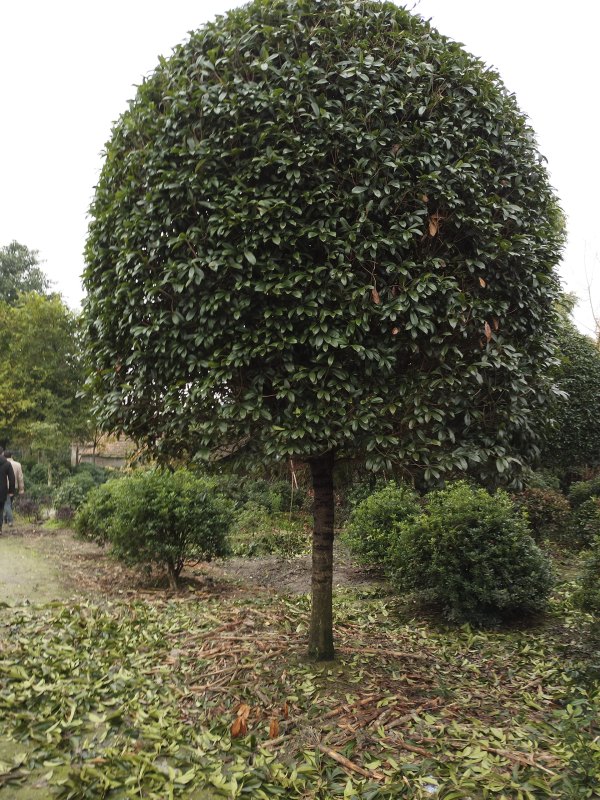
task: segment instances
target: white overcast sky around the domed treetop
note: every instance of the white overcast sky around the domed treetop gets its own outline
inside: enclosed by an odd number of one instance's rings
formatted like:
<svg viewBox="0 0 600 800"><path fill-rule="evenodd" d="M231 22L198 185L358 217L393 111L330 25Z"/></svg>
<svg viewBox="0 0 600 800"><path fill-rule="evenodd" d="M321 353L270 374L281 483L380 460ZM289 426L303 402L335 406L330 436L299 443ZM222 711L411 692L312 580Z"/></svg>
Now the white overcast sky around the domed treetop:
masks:
<svg viewBox="0 0 600 800"><path fill-rule="evenodd" d="M401 3L398 3L399 5ZM72 307L111 124L159 55L236 0L19 0L0 8L0 246L39 251ZM563 285L600 317L598 0L409 0L493 65L538 135L567 214ZM591 289L591 303L588 298Z"/></svg>

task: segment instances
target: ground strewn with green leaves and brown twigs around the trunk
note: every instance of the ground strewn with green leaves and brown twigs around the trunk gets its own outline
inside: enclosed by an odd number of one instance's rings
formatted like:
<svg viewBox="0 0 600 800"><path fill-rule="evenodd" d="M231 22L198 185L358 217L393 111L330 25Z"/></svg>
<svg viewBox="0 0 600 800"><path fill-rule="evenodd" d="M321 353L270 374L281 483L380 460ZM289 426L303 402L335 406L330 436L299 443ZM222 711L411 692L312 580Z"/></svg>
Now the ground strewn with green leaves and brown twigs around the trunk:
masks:
<svg viewBox="0 0 600 800"><path fill-rule="evenodd" d="M340 552L337 658L316 664L305 556L187 567L172 593L43 538L71 553L71 596L1 612L0 797L600 792L599 634L572 561L544 615L483 632L415 616Z"/></svg>

